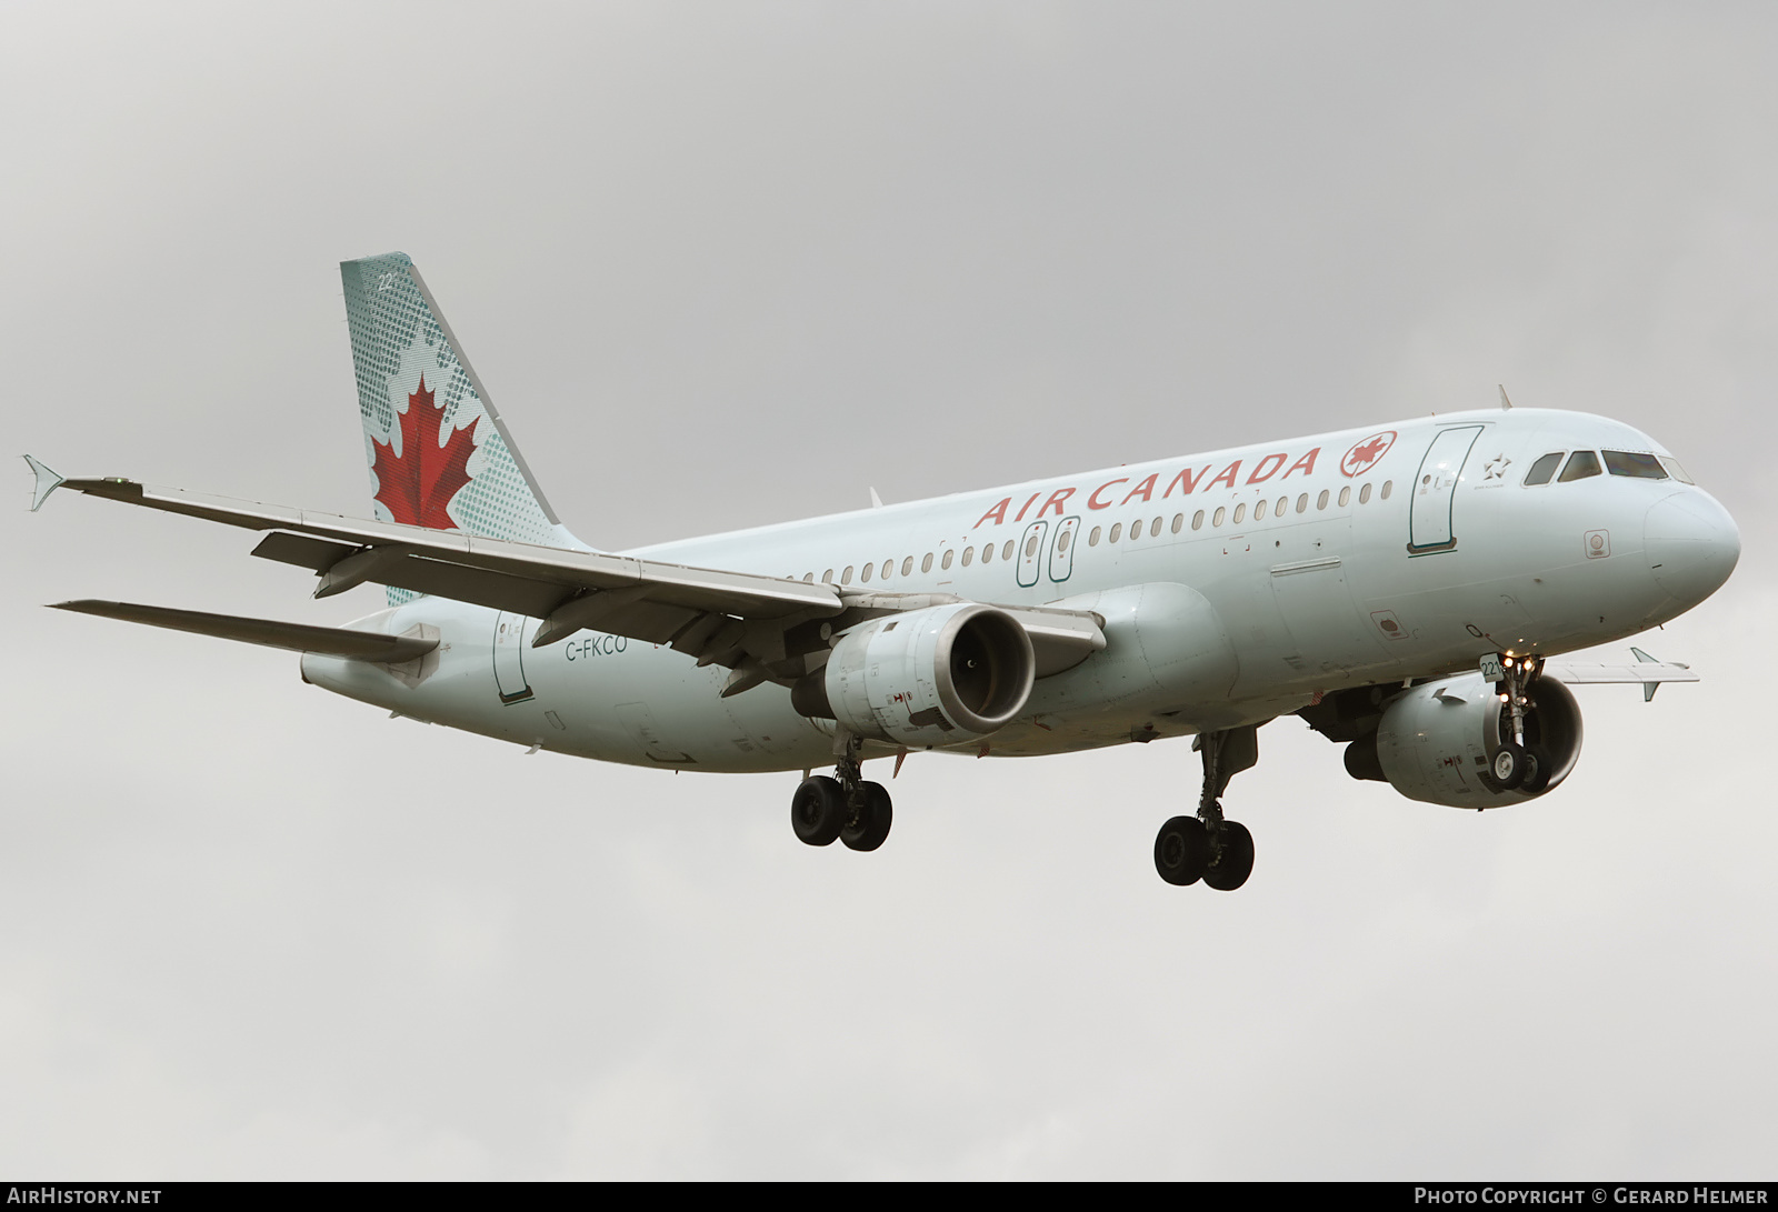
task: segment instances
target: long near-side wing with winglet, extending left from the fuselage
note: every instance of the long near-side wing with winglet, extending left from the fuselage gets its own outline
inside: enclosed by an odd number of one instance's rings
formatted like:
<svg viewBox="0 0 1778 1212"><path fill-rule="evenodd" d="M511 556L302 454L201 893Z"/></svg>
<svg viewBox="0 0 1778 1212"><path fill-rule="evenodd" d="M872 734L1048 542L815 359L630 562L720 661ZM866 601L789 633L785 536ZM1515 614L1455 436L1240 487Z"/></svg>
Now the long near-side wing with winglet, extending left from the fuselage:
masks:
<svg viewBox="0 0 1778 1212"><path fill-rule="evenodd" d="M960 601L937 594L853 594L754 572L480 538L124 478L64 480L34 458L30 466L37 474L32 508L64 487L265 531L252 554L311 569L320 578L316 597L372 581L541 618L535 647L581 627L669 643L695 656L699 665L733 668L724 693L740 693L761 681L788 684L818 668L827 650L825 636L818 634L821 622L832 634L877 615ZM1040 674L1079 665L1106 647L1102 620L1086 611L1003 610L1031 636Z"/></svg>

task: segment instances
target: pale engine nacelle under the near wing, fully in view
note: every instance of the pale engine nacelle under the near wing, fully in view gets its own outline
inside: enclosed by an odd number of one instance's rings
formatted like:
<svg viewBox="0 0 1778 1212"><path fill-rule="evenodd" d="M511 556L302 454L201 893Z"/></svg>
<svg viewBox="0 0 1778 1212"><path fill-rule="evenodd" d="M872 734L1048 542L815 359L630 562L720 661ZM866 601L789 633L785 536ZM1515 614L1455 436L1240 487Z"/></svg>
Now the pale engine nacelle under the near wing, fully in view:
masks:
<svg viewBox="0 0 1778 1212"><path fill-rule="evenodd" d="M848 629L791 704L878 741L957 745L1012 722L1035 679L1031 638L1012 615L953 602Z"/></svg>

